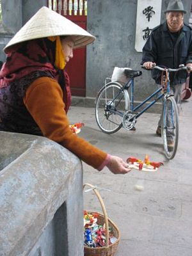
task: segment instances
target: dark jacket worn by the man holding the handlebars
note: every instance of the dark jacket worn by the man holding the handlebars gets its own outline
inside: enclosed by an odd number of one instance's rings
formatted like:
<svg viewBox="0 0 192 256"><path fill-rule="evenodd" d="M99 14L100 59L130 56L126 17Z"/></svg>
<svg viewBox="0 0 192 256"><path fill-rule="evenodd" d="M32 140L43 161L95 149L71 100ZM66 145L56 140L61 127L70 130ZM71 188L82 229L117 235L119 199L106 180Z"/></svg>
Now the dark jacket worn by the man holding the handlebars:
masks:
<svg viewBox="0 0 192 256"><path fill-rule="evenodd" d="M177 38L175 42L174 37ZM166 22L154 28L143 47L141 64L146 61L152 61L168 68L178 68L180 64L192 63L192 29L184 24L180 33L170 33ZM172 72L170 74L171 84L184 83L186 75L185 70ZM152 70L152 77L157 84L161 84L159 70Z"/></svg>

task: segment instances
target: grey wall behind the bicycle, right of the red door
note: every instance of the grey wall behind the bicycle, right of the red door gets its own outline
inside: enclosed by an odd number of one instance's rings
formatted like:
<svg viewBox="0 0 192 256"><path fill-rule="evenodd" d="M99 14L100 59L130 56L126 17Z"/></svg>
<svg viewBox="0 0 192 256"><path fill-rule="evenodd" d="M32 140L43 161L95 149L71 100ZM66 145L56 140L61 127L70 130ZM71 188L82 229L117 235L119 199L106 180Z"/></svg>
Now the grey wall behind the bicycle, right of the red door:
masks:
<svg viewBox="0 0 192 256"><path fill-rule="evenodd" d="M162 10L166 10L167 0L163 0ZM182 0L188 10L185 22L189 22L191 0ZM94 44L87 47L86 96L95 97L110 77L114 67L140 69L141 52L136 52L136 9L137 0L88 0L88 31L97 37ZM164 20L164 13L161 20ZM143 76L135 79L136 100L141 100L156 88L150 72L143 70Z"/></svg>

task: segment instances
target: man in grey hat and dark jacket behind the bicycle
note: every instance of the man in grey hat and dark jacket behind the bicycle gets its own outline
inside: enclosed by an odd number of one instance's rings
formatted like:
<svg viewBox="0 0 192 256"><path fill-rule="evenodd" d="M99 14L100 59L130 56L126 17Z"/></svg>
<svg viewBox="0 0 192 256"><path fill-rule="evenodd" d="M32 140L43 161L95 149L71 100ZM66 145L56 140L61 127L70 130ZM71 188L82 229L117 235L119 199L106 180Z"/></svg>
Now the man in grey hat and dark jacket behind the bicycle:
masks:
<svg viewBox="0 0 192 256"><path fill-rule="evenodd" d="M154 65L178 68L180 64L192 67L192 29L184 24L183 4L180 0L171 0L168 4L166 22L152 30L143 47L141 64L150 69ZM152 70L152 78L161 85L161 72ZM170 73L170 92L180 104L182 84L186 80L186 72ZM156 134L161 136L161 118Z"/></svg>

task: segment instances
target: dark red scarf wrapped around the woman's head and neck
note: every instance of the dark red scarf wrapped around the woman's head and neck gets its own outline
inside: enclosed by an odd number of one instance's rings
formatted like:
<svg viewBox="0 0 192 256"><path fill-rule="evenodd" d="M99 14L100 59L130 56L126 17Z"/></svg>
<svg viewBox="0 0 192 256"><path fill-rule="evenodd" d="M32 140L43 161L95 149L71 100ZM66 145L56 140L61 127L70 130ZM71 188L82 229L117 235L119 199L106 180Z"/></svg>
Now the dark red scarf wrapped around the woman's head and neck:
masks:
<svg viewBox="0 0 192 256"><path fill-rule="evenodd" d="M55 47L55 42L51 42L47 38L13 45L0 71L0 88L37 70L49 72L52 78L60 83L59 70L54 67ZM67 112L71 102L70 81L67 72L64 72L63 75L65 86L64 84L60 84L60 86L63 90L63 101Z"/></svg>

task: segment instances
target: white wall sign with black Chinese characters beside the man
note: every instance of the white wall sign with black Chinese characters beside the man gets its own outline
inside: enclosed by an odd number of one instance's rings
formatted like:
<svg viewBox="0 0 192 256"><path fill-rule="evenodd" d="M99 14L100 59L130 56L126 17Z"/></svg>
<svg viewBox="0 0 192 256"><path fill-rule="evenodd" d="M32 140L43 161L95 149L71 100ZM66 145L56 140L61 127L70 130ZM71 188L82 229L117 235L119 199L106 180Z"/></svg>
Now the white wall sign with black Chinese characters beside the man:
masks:
<svg viewBox="0 0 192 256"><path fill-rule="evenodd" d="M138 0L135 49L142 52L153 28L161 22L162 0Z"/></svg>

